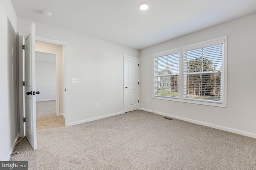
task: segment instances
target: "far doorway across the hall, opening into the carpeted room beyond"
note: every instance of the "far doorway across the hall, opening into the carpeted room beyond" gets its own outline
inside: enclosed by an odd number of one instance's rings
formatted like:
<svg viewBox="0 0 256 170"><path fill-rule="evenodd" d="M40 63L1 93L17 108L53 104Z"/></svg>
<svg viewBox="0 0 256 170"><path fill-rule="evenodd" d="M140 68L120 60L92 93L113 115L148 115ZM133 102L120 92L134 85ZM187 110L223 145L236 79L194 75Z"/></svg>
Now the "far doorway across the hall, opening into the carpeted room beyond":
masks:
<svg viewBox="0 0 256 170"><path fill-rule="evenodd" d="M59 116L59 54L36 50L36 118Z"/></svg>

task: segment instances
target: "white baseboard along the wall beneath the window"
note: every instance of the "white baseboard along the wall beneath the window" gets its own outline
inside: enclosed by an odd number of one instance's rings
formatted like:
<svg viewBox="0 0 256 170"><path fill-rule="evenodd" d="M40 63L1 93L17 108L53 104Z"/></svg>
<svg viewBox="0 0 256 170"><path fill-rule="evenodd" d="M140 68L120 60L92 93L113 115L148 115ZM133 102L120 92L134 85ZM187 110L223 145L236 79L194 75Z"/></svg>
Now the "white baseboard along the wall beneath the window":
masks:
<svg viewBox="0 0 256 170"><path fill-rule="evenodd" d="M197 121L197 120L193 120L193 119L187 119L185 117L179 117L179 116L175 116L175 115L170 115L170 114L167 114L167 113L162 113L162 112L158 112L158 111L154 111L154 110L150 110L150 109L144 109L144 108L140 108L140 109L144 110L144 111L151 112L151 113L156 113L158 115L163 115L163 116L172 117L172 118L175 118L175 119L180 119L180 120L188 121L188 122L191 122L191 123L196 123L198 125L212 127L214 129L220 129L222 131L228 131L228 132L231 132L231 133L236 133L236 134L239 134L239 135L244 135L244 136L247 136L247 137L256 138L256 134L255 133L250 133L250 132L246 132L246 131L240 131L238 129L232 129L232 128L229 128L229 127L214 125L214 124L211 124L211 123L205 123L205 122Z"/></svg>

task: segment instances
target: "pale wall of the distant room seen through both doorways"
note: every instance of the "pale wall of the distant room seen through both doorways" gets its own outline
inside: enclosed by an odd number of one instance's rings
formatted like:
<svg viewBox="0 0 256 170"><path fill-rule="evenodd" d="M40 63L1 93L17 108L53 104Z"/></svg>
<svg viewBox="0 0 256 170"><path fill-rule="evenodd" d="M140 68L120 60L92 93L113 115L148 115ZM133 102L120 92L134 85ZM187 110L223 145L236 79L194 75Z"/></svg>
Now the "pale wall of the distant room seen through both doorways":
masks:
<svg viewBox="0 0 256 170"><path fill-rule="evenodd" d="M56 100L56 55L36 52L36 91L37 102Z"/></svg>

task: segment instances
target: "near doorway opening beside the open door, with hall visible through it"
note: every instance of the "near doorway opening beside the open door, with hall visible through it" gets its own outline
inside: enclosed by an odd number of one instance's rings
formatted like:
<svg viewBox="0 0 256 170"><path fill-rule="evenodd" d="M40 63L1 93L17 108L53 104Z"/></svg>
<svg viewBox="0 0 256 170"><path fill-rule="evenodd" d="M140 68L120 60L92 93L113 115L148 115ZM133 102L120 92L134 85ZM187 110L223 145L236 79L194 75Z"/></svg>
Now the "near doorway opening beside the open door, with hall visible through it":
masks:
<svg viewBox="0 0 256 170"><path fill-rule="evenodd" d="M42 91L36 96L37 129L64 126L66 45L36 37L35 51L36 89Z"/></svg>

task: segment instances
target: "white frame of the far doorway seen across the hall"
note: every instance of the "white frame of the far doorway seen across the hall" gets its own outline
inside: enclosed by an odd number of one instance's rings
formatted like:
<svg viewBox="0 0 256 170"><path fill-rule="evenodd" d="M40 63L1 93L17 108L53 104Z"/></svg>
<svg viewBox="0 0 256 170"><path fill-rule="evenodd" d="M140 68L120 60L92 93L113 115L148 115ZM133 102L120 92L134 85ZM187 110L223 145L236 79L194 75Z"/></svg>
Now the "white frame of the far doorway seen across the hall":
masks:
<svg viewBox="0 0 256 170"><path fill-rule="evenodd" d="M36 49L36 52L54 54L56 55L56 116L60 116L60 96L59 96L59 53L54 53L50 51L44 51Z"/></svg>

